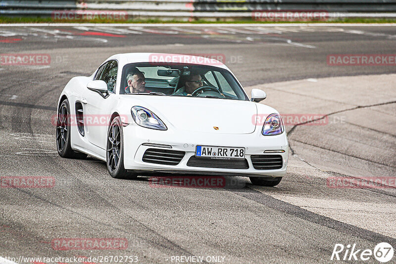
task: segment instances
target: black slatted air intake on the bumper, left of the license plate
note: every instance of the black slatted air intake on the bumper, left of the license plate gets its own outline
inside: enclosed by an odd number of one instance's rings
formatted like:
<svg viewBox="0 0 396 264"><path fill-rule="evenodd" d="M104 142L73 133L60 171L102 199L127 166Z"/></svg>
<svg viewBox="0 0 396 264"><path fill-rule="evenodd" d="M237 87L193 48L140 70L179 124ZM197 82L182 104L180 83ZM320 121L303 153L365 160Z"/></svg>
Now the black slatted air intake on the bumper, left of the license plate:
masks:
<svg viewBox="0 0 396 264"><path fill-rule="evenodd" d="M149 148L143 155L142 160L148 163L163 165L178 165L186 152L170 149Z"/></svg>

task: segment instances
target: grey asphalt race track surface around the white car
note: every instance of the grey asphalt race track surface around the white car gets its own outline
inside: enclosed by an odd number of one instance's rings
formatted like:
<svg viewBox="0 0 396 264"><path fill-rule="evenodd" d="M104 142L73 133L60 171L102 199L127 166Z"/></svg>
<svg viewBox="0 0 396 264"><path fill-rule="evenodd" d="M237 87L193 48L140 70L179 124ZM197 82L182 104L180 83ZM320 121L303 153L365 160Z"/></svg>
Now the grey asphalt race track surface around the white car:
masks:
<svg viewBox="0 0 396 264"><path fill-rule="evenodd" d="M1 257L330 263L336 243L395 248L395 185L331 188L327 179L396 176L396 67L326 60L395 54L395 27L0 27L0 47L51 57L49 65L0 65L0 175L55 178L53 188L0 189ZM70 78L91 75L121 52L222 54L243 86L266 90L263 103L281 113L347 122L287 127L288 174L276 187L244 177L229 188L152 188L147 177L113 179L94 158L60 158L51 117ZM54 250L58 238L124 238L128 247Z"/></svg>

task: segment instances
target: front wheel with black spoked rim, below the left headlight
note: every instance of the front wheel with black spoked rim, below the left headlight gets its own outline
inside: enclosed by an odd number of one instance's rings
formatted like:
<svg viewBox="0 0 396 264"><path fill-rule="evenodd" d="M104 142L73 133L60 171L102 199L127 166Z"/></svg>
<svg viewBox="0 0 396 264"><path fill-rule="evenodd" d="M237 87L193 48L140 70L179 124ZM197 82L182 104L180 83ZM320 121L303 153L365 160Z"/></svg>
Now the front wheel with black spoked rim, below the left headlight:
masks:
<svg viewBox="0 0 396 264"><path fill-rule="evenodd" d="M116 116L107 131L106 165L110 176L113 178L136 178L124 168L124 136L121 119Z"/></svg>

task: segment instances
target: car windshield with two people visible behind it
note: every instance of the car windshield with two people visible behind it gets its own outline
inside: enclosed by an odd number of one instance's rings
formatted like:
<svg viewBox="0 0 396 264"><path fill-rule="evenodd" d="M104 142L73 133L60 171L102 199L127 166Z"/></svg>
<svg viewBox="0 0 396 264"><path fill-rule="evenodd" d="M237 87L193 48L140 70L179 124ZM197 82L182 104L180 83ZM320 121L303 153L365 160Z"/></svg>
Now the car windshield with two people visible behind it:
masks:
<svg viewBox="0 0 396 264"><path fill-rule="evenodd" d="M213 66L131 63L124 66L121 78L120 94L248 100L229 71Z"/></svg>

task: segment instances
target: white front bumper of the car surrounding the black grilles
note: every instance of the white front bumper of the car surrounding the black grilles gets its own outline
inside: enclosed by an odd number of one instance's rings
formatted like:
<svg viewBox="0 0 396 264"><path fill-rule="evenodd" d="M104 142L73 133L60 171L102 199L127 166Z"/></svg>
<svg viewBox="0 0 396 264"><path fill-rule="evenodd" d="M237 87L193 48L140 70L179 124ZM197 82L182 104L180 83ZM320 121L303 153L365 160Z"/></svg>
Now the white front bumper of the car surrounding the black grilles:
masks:
<svg viewBox="0 0 396 264"><path fill-rule="evenodd" d="M140 172L201 174L201 175L232 175L232 176L284 176L288 163L288 140L286 132L280 135L264 136L261 130L250 134L203 133L190 131L152 130L129 124L123 127L124 134L124 167L127 170ZM164 144L172 146L172 150L186 152L178 165L161 165L147 163L142 160L145 151L152 146L143 143ZM245 147L245 158L248 169L223 169L187 166L187 162L195 156L196 145ZM251 162L251 155L264 155L265 150L284 150L276 153L282 156L282 168L276 170L256 170ZM268 153L274 154L274 153Z"/></svg>

